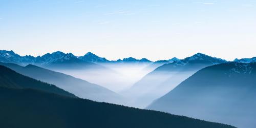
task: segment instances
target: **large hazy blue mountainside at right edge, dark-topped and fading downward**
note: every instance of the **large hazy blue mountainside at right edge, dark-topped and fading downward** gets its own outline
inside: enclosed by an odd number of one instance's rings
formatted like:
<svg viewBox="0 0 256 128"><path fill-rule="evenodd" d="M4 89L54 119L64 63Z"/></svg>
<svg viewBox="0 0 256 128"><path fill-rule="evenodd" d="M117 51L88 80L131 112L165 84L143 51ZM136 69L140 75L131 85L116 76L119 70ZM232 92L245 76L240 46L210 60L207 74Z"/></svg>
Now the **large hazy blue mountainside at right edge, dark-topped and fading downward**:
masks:
<svg viewBox="0 0 256 128"><path fill-rule="evenodd" d="M255 91L256 63L222 63L198 71L148 109L252 128Z"/></svg>

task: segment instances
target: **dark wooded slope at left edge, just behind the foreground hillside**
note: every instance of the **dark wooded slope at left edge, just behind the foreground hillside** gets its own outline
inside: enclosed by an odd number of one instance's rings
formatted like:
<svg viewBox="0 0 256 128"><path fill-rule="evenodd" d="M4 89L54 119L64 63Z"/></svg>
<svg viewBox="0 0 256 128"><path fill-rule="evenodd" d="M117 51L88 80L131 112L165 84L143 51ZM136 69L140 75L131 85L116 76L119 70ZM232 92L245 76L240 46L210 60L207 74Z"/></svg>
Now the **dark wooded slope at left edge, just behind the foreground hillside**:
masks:
<svg viewBox="0 0 256 128"><path fill-rule="evenodd" d="M75 95L65 90L62 90L52 84L41 82L30 77L21 75L4 66L0 66L0 87L15 89L30 88L55 93L63 96L76 97Z"/></svg>

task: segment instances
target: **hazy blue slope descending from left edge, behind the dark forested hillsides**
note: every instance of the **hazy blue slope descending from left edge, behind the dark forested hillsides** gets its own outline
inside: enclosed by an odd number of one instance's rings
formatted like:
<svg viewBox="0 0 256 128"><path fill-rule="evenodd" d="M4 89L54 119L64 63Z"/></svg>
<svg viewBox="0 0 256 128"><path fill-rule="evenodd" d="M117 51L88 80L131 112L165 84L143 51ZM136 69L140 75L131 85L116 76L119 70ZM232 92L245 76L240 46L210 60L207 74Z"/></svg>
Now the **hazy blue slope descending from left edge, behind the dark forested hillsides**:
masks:
<svg viewBox="0 0 256 128"><path fill-rule="evenodd" d="M57 87L69 91L80 98L111 103L120 103L122 101L121 96L115 92L70 75L54 72L33 65L22 67L13 63L2 62L0 62L0 65L6 66L31 78L54 84Z"/></svg>

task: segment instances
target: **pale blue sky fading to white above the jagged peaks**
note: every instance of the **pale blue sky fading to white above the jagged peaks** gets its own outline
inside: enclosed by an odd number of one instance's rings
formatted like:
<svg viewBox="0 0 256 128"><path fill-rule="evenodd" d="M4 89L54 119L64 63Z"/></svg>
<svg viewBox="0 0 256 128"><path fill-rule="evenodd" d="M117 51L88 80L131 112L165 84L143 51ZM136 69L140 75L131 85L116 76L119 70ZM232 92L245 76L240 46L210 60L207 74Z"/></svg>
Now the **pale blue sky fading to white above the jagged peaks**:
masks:
<svg viewBox="0 0 256 128"><path fill-rule="evenodd" d="M256 56L256 1L0 1L1 49L111 60Z"/></svg>

